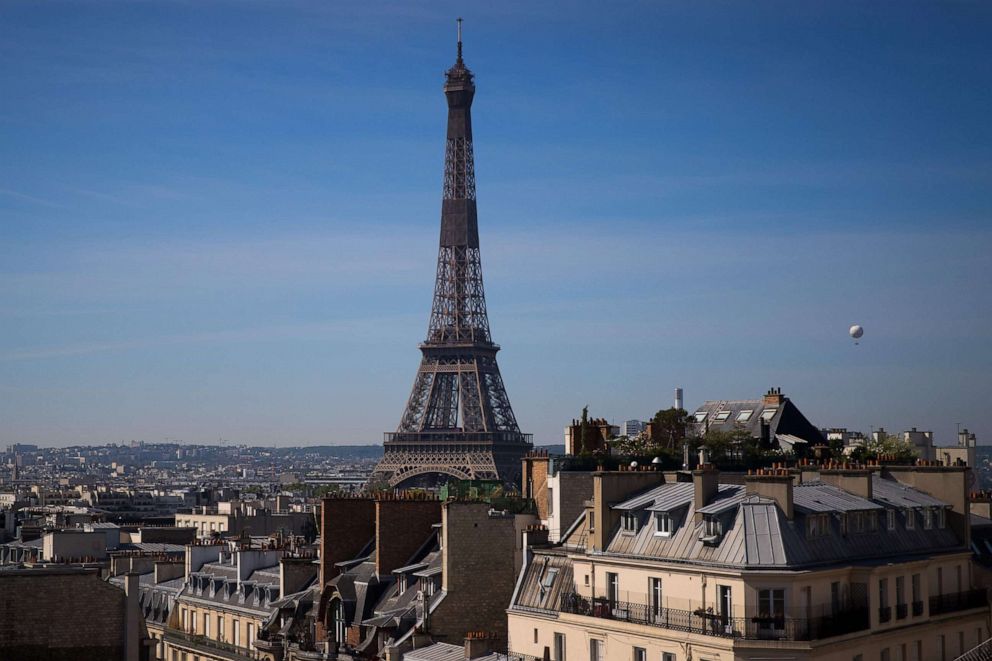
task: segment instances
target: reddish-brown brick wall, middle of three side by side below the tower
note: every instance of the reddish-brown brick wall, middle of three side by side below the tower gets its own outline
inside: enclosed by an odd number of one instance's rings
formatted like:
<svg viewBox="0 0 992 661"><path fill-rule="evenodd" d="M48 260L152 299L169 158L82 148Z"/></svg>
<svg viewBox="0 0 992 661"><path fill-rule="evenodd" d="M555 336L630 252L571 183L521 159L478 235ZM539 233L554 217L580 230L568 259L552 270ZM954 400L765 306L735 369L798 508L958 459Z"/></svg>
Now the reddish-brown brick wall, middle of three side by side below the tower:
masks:
<svg viewBox="0 0 992 661"><path fill-rule="evenodd" d="M407 498L380 498L375 514L375 569L379 575L402 567L441 522L441 502Z"/></svg>

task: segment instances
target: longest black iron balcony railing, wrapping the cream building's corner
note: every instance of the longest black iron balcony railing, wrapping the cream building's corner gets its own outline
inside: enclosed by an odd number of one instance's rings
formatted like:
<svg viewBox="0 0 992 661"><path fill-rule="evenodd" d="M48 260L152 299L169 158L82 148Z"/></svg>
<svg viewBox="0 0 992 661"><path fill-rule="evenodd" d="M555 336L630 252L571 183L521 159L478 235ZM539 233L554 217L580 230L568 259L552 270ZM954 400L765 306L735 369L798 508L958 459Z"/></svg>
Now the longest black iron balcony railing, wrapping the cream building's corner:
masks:
<svg viewBox="0 0 992 661"><path fill-rule="evenodd" d="M711 609L653 607L642 603L588 600L570 593L562 597L559 610L563 613L647 624L673 631L696 633L720 638L753 640L819 640L868 629L867 608L846 608L836 616L790 617L753 613L745 617L728 617Z"/></svg>

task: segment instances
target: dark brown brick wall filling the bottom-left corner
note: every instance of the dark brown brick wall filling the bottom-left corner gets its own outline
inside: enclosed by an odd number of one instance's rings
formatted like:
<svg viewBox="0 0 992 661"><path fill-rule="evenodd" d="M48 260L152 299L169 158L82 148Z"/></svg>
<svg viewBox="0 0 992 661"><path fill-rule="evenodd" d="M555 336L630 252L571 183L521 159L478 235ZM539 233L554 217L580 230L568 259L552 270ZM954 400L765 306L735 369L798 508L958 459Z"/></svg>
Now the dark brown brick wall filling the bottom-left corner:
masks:
<svg viewBox="0 0 992 661"><path fill-rule="evenodd" d="M123 590L95 573L0 573L0 658L123 659L124 603Z"/></svg>

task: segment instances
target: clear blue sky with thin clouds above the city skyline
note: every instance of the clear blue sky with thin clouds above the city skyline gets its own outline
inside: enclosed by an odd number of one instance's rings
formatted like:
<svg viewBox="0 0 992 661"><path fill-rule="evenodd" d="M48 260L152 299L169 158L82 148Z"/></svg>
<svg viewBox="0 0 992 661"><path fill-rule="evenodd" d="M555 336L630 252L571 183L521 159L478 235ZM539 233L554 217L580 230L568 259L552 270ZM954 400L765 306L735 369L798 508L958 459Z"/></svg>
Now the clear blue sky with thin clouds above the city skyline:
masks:
<svg viewBox="0 0 992 661"><path fill-rule="evenodd" d="M537 442L676 386L992 440L987 3L421 4L0 4L0 444L381 442L458 15Z"/></svg>

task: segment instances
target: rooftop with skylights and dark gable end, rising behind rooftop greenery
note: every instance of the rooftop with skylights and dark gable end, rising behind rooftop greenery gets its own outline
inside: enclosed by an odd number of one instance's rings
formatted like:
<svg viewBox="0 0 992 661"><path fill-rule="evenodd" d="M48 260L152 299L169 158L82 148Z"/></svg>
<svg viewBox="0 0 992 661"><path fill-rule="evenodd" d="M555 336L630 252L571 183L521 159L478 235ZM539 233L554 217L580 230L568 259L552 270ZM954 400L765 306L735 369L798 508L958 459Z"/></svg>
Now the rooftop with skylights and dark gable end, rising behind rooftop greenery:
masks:
<svg viewBox="0 0 992 661"><path fill-rule="evenodd" d="M781 388L772 388L761 399L707 400L692 414L696 432L747 431L763 444L803 454L824 437Z"/></svg>

